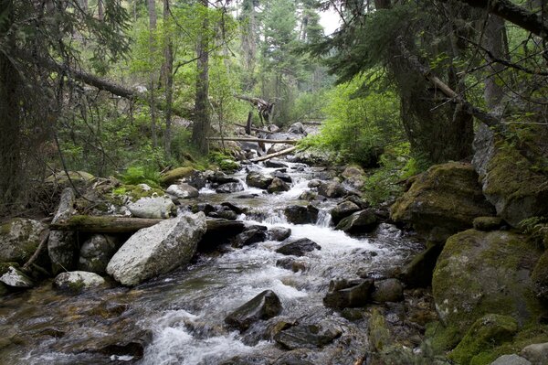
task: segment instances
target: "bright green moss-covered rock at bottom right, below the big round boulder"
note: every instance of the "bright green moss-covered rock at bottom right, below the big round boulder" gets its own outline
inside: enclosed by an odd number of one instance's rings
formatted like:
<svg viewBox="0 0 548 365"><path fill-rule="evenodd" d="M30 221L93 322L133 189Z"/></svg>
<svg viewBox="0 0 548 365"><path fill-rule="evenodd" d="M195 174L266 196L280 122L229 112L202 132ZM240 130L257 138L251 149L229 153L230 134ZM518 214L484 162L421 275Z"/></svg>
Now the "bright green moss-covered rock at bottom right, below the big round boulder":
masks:
<svg viewBox="0 0 548 365"><path fill-rule="evenodd" d="M512 317L493 314L481 317L469 328L457 348L449 355L449 359L460 365L469 365L476 355L510 341L517 331L518 322Z"/></svg>

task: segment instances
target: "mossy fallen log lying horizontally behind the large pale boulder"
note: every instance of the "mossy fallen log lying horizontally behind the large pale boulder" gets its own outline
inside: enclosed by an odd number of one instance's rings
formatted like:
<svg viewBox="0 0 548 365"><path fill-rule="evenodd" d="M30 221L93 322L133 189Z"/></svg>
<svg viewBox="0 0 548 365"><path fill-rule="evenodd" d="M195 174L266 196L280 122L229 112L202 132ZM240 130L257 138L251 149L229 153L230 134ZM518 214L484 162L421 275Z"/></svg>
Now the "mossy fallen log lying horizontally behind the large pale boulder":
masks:
<svg viewBox="0 0 548 365"><path fill-rule="evenodd" d="M89 233L132 233L151 227L162 220L113 216L72 216L49 226L52 231L80 231ZM244 227L239 220L207 218L207 231L238 230Z"/></svg>

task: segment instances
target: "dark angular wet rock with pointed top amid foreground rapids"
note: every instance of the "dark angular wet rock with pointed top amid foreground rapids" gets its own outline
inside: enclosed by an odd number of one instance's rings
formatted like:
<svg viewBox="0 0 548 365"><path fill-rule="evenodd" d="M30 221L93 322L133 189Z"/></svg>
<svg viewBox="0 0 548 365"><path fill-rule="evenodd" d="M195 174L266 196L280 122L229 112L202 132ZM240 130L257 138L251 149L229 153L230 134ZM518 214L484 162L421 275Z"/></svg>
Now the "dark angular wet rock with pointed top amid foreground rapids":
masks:
<svg viewBox="0 0 548 365"><path fill-rule="evenodd" d="M225 318L225 322L231 327L237 327L240 331L245 331L258 320L278 316L281 309L278 295L271 290L265 290L230 313Z"/></svg>

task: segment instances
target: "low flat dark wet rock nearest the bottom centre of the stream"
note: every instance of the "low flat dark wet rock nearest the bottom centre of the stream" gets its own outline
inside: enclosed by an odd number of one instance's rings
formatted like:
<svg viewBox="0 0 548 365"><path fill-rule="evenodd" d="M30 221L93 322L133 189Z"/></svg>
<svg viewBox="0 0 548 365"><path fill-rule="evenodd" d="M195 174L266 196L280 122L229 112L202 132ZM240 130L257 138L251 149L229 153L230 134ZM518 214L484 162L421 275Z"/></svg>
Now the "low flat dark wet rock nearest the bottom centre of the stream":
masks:
<svg viewBox="0 0 548 365"><path fill-rule="evenodd" d="M292 326L274 335L285 349L318 349L342 335L342 328L328 321Z"/></svg>

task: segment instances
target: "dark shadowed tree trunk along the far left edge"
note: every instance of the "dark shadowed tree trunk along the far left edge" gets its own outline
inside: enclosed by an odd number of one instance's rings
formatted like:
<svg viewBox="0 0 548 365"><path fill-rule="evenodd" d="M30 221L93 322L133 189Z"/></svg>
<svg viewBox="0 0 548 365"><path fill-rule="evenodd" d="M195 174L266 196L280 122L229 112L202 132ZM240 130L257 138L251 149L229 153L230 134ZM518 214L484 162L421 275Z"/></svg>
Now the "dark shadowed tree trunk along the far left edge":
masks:
<svg viewBox="0 0 548 365"><path fill-rule="evenodd" d="M0 37L12 22L12 0L0 0ZM11 47L12 45L8 45ZM0 53L0 216L16 202L21 179L21 105L18 72L4 52Z"/></svg>

